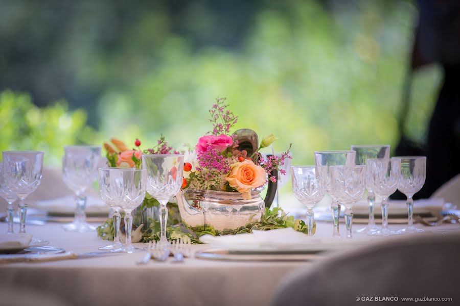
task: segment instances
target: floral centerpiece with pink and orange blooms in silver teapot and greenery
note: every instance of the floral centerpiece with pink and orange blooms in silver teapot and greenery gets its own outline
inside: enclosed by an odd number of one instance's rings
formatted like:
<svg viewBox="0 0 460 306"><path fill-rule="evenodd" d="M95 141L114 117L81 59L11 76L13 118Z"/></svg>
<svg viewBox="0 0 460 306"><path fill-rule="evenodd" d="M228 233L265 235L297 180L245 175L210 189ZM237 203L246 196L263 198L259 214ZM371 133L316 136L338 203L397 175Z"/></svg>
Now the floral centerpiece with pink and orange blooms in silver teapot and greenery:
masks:
<svg viewBox="0 0 460 306"><path fill-rule="evenodd" d="M285 175L281 166L291 158L290 146L281 157L264 157L260 150L277 140L273 134L259 144L254 131L231 132L238 117L228 109L225 98L216 99L209 113L213 129L200 137L194 148L182 152L185 156L182 189L168 203L168 224L173 225L167 228L168 238L198 242L203 234L239 234L282 227L306 233L303 221L288 217L278 208L270 211L271 202L264 203L260 198L260 191L267 183L270 189L277 182L278 173ZM104 144L111 167L140 168L142 154L179 153L168 146L163 136L155 147L145 150L140 149L138 139L132 149L118 139L111 142L113 146ZM158 202L147 195L139 209L157 206ZM148 218L142 240L158 239L158 223L154 217ZM112 238L112 232L110 220L98 228L98 234L105 239Z"/></svg>

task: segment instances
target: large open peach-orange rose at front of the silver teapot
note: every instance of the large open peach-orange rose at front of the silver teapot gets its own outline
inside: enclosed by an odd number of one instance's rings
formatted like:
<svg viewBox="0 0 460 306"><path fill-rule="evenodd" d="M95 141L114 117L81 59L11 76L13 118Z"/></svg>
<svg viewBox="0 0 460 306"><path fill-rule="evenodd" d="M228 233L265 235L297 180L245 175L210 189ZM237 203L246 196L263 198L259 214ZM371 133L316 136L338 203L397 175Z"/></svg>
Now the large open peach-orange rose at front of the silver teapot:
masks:
<svg viewBox="0 0 460 306"><path fill-rule="evenodd" d="M232 165L232 171L225 177L230 187L242 193L244 199L251 198L251 188L265 184L266 173L264 168L254 164L251 160Z"/></svg>

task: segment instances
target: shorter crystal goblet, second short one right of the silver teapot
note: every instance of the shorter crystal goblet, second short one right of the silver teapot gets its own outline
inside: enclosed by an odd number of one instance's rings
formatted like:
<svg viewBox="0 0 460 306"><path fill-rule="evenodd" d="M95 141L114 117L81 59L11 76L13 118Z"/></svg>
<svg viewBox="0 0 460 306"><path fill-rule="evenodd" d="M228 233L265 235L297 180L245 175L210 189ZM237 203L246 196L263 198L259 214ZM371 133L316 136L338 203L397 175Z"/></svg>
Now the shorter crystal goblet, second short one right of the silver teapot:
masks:
<svg viewBox="0 0 460 306"><path fill-rule="evenodd" d="M353 205L362 198L366 166L330 166L331 193L345 207L347 237L352 238Z"/></svg>

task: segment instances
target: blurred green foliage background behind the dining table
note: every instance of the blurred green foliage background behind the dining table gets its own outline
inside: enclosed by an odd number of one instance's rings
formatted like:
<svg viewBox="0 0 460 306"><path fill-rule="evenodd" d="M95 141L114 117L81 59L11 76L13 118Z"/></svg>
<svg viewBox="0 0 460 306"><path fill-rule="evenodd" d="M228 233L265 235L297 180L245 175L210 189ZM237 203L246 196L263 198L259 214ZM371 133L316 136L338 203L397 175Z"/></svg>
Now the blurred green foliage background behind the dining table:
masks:
<svg viewBox="0 0 460 306"><path fill-rule="evenodd" d="M227 97L237 128L313 150L399 140L418 11L412 1L0 0L0 147L45 151L117 137L177 148ZM441 73L415 75L406 134L423 143Z"/></svg>

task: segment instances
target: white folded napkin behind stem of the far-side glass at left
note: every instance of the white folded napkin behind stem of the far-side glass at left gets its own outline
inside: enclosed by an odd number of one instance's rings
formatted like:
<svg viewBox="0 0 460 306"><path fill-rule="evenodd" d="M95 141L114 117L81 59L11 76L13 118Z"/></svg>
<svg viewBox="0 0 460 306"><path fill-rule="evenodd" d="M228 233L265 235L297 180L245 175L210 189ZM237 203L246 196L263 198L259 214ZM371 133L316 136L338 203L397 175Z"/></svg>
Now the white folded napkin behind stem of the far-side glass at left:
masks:
<svg viewBox="0 0 460 306"><path fill-rule="evenodd" d="M29 205L31 208L48 211L58 214L73 214L75 212L75 197L68 195L64 197L54 198L50 200L33 201ZM86 213L98 214L109 212L109 207L102 199L95 196L86 198Z"/></svg>

